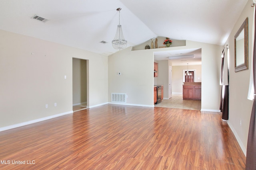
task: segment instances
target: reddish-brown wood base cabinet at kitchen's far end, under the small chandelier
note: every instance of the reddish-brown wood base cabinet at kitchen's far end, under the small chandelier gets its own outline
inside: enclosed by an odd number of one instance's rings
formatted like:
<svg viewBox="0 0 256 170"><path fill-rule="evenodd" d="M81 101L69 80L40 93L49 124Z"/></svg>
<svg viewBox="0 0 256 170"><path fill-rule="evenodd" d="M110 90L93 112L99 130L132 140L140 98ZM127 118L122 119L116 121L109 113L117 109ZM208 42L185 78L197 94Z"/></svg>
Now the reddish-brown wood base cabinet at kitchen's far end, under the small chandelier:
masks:
<svg viewBox="0 0 256 170"><path fill-rule="evenodd" d="M184 82L183 99L201 100L201 82Z"/></svg>

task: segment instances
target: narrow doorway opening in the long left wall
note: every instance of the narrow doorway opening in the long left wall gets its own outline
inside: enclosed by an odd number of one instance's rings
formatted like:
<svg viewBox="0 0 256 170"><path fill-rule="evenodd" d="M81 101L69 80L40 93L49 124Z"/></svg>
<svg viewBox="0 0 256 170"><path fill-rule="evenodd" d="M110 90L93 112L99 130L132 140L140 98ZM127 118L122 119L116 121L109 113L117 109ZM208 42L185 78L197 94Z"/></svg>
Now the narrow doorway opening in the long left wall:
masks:
<svg viewBox="0 0 256 170"><path fill-rule="evenodd" d="M72 59L73 112L87 108L88 105L88 61Z"/></svg>

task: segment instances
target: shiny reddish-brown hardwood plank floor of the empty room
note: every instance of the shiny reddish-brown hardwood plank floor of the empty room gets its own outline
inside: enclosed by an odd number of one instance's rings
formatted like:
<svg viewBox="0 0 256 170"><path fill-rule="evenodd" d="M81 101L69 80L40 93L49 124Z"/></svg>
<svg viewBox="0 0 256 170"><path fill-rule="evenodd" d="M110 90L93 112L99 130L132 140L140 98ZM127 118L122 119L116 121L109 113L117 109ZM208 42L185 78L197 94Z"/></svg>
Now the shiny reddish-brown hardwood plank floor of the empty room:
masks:
<svg viewBox="0 0 256 170"><path fill-rule="evenodd" d="M245 169L220 113L109 104L0 132L0 160L12 170Z"/></svg>

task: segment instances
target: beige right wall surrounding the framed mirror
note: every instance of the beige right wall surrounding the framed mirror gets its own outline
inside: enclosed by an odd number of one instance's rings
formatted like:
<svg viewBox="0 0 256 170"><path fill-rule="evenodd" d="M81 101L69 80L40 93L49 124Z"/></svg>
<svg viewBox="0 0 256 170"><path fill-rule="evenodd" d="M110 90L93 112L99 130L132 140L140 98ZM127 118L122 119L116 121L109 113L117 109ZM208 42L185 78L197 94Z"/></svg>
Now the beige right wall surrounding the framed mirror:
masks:
<svg viewBox="0 0 256 170"><path fill-rule="evenodd" d="M253 22L253 8L250 6L252 1L248 1L242 14L238 18L232 32L230 33L226 44L229 45L230 52L230 96L229 96L229 120L228 123L243 151L246 152L248 129L250 122L250 115L252 110L252 101L247 99L248 87L250 81L250 66L252 56L252 22ZM244 20L248 17L248 31L249 31L249 70L235 72L234 70L234 36ZM240 126L240 119L242 126Z"/></svg>

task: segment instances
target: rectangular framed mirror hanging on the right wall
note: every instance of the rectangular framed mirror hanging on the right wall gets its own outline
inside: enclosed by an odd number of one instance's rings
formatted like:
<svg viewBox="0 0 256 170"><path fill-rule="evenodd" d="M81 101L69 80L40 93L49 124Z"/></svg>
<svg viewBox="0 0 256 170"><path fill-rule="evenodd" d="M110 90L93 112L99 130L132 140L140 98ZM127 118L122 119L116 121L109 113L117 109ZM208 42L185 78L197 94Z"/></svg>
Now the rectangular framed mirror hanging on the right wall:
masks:
<svg viewBox="0 0 256 170"><path fill-rule="evenodd" d="M248 17L235 35L235 72L248 69Z"/></svg>

